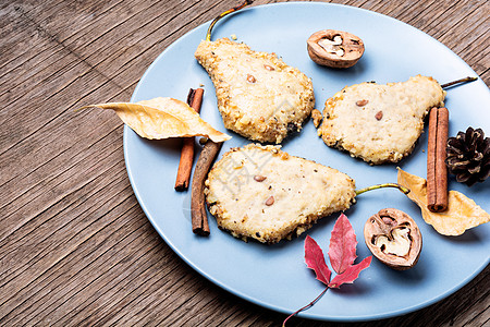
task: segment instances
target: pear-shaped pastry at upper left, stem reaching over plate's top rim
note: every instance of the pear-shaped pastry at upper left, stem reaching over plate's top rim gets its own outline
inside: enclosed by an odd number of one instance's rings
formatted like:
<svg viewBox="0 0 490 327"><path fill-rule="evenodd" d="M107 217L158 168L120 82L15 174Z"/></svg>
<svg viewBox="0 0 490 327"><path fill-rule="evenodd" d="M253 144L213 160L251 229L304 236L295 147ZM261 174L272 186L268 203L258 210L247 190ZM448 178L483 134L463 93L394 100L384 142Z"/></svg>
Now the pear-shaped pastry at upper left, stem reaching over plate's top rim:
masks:
<svg viewBox="0 0 490 327"><path fill-rule="evenodd" d="M249 140L281 143L315 106L311 81L274 53L221 38L203 40L195 57L215 84L224 126Z"/></svg>

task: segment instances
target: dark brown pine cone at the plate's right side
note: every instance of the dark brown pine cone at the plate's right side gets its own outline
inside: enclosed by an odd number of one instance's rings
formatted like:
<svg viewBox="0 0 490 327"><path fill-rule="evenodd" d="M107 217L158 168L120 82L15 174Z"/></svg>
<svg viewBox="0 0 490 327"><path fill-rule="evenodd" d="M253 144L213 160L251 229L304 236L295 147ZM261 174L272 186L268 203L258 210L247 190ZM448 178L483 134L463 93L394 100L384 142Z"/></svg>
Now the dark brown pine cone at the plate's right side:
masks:
<svg viewBox="0 0 490 327"><path fill-rule="evenodd" d="M468 128L448 140L445 164L456 181L471 186L490 174L490 140L481 129Z"/></svg>

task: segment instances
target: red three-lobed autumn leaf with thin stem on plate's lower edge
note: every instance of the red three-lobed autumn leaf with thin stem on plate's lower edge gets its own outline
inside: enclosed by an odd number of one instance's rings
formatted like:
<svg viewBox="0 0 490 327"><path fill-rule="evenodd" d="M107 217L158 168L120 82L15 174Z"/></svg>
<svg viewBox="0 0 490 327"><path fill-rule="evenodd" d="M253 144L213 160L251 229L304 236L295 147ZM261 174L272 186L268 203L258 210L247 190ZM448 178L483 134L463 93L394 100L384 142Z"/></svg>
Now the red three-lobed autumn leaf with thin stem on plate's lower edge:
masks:
<svg viewBox="0 0 490 327"><path fill-rule="evenodd" d="M352 283L359 277L363 269L366 269L371 264L372 256L368 256L359 264L354 265L356 259L356 234L352 228L347 216L341 214L333 226L332 234L329 245L330 264L333 270L338 274L332 281L330 281L331 271L326 264L323 252L317 242L309 235L305 239L305 263L306 266L315 271L317 279L323 282L327 288L314 301L303 306L298 311L285 318L282 326L297 313L311 307L329 288L339 288L343 283Z"/></svg>

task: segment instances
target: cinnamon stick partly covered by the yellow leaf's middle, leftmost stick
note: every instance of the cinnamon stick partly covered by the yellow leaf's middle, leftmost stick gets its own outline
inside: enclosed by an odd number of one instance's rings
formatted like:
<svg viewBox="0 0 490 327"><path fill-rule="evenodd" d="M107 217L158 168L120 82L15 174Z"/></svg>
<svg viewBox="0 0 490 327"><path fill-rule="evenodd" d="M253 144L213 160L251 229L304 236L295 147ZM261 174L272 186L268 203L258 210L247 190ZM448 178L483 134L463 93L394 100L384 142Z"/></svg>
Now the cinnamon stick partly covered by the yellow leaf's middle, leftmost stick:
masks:
<svg viewBox="0 0 490 327"><path fill-rule="evenodd" d="M187 105L189 105L197 113L200 111L203 104L204 89L191 88L187 95ZM179 162L177 175L175 179L175 191L185 191L188 189L191 180L191 171L194 162L194 137L184 137L182 141L181 161Z"/></svg>

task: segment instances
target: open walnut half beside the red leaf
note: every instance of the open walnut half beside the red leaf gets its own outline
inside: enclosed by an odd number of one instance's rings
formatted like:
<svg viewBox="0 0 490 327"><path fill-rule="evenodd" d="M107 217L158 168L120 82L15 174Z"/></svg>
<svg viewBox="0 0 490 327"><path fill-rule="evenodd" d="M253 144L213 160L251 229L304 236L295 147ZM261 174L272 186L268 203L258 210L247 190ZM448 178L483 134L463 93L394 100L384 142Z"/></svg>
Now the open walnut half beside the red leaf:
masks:
<svg viewBox="0 0 490 327"><path fill-rule="evenodd" d="M422 245L414 219L393 208L382 209L366 221L364 240L372 255L396 270L414 267Z"/></svg>

